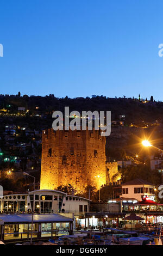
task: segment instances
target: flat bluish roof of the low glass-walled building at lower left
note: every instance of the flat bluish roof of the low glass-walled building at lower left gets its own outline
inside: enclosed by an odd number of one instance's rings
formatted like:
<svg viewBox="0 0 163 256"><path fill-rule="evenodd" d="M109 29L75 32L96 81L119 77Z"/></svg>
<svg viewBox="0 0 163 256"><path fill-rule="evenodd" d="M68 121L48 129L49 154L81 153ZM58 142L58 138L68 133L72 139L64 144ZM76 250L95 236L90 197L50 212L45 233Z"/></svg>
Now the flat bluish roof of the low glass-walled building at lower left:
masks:
<svg viewBox="0 0 163 256"><path fill-rule="evenodd" d="M34 222L72 222L72 218L67 218L60 214L34 214ZM32 214L1 214L0 224L3 223L31 223Z"/></svg>

